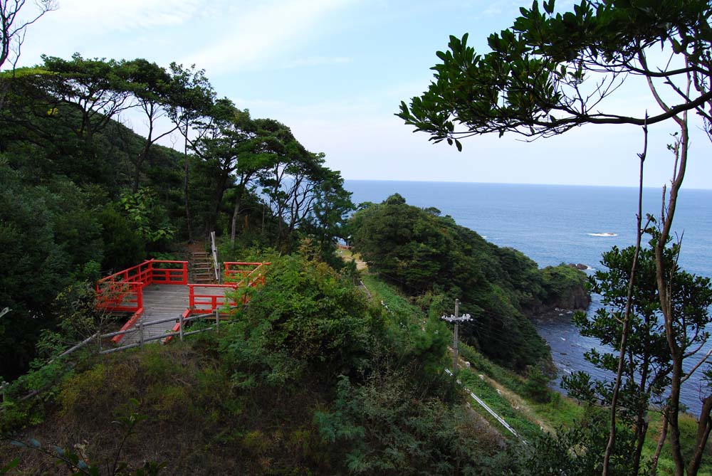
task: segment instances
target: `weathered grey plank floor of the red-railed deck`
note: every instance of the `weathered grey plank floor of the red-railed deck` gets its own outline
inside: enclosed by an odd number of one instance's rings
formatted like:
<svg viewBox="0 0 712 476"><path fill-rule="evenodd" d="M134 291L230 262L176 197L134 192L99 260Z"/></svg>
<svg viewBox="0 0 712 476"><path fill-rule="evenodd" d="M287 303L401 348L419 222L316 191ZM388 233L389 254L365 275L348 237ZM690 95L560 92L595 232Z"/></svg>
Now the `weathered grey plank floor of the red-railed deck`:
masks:
<svg viewBox="0 0 712 476"><path fill-rule="evenodd" d="M221 287L200 287L201 294L223 296L225 288ZM171 332L177 324L180 315L188 309L189 288L187 285L148 285L143 289L143 315L136 322L134 328L137 329L141 322L148 324L152 321L169 319L173 317L174 322L163 322L144 327L144 338L157 337L167 332ZM139 342L138 332L127 334L122 344L132 344ZM159 340L152 342L160 342Z"/></svg>

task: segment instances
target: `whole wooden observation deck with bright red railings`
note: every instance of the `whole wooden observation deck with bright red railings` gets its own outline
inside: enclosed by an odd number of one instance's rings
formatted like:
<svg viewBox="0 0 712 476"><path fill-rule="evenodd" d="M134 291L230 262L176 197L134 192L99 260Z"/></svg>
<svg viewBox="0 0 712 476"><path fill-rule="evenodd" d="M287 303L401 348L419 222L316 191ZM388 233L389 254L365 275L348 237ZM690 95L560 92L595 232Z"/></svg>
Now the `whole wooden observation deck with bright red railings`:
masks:
<svg viewBox="0 0 712 476"><path fill-rule="evenodd" d="M158 337L167 332L177 332L181 316L209 314L221 307L236 306L230 294L238 288L256 287L265 282L265 266L270 263L223 263L224 284L201 284L188 282L188 262L170 260L147 260L99 280L96 292L99 307L110 312L130 314L122 331L143 322L155 322L174 317L175 323L146 327L148 337ZM245 303L247 294L241 298ZM112 340L120 342L126 334ZM127 342L137 339L137 334L128 334Z"/></svg>

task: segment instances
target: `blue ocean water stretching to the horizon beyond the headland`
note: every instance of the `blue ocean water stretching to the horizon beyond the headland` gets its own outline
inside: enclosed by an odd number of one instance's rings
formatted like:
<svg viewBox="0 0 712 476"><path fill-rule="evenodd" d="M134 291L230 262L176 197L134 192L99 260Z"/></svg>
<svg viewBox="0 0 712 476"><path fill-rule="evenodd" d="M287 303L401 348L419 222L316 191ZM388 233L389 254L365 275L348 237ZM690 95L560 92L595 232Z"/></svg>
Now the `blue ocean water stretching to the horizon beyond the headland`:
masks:
<svg viewBox="0 0 712 476"><path fill-rule="evenodd" d="M595 269L604 251L635 243L634 188L362 180L347 180L345 187L353 192L354 203L379 203L398 193L411 205L439 208L491 243L522 251L540 267L582 263ZM661 197L660 189L644 189L643 213L659 216ZM712 277L712 190L680 192L674 231L682 243L680 265L689 273ZM594 296L589 312L598 307L600 300ZM560 374L584 370L607 378L583 359L597 342L581 337L569 319L538 322L537 327L550 344ZM703 352L708 348L712 343ZM700 386L691 378L684 389L682 400L691 411L701 408Z"/></svg>

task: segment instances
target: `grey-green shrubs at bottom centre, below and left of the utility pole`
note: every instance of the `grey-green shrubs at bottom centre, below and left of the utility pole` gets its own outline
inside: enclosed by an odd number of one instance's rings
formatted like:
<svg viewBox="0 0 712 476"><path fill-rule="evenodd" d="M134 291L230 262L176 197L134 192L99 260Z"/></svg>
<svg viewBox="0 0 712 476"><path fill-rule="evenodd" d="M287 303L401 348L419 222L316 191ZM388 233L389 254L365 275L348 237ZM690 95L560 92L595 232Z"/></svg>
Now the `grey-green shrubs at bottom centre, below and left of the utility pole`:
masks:
<svg viewBox="0 0 712 476"><path fill-rule="evenodd" d="M414 400L398 373L373 376L361 386L342 377L333 411L315 413L324 440L336 443L349 472L378 475L508 474L514 470L464 406L450 410L435 398Z"/></svg>

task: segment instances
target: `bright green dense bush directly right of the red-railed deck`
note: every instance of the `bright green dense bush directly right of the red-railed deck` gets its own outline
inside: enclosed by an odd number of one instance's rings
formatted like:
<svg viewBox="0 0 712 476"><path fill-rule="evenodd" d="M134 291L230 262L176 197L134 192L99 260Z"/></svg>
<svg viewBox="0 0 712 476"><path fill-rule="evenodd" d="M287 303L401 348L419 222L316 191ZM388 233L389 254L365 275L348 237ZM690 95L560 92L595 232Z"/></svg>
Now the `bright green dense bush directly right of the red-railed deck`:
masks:
<svg viewBox="0 0 712 476"><path fill-rule="evenodd" d="M293 384L309 370L329 379L367 363L382 326L359 290L325 263L286 256L221 338L240 384Z"/></svg>

